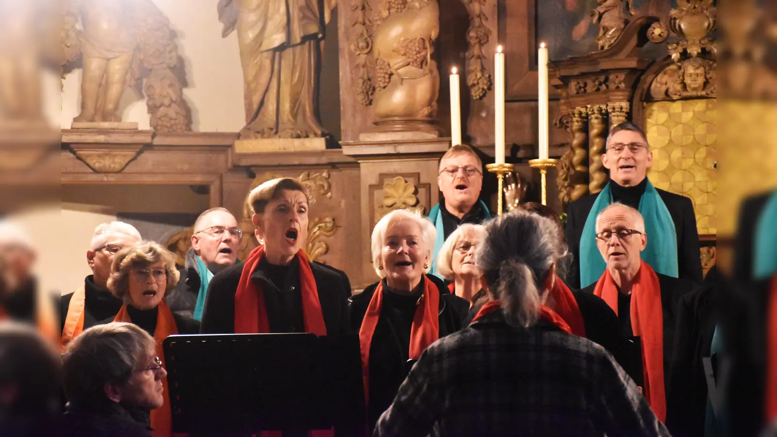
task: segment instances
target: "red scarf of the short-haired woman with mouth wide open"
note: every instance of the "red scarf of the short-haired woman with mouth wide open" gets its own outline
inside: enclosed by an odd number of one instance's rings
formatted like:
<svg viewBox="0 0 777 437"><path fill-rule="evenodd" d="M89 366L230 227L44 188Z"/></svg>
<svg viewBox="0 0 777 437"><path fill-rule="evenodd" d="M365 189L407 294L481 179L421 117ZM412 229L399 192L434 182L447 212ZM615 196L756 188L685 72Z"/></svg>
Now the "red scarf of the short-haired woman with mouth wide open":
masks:
<svg viewBox="0 0 777 437"><path fill-rule="evenodd" d="M264 256L264 245L252 250L243 264L237 292L235 292L235 334L269 334L270 322L267 320L267 307L264 302L264 290L258 281L252 281L251 275ZM302 318L305 320L305 332L319 336L326 335L326 323L321 312L319 290L315 286L310 261L302 250L297 252L299 262L299 284L302 295ZM293 262L293 261L292 261ZM263 431L260 437L280 437L280 431ZM308 432L310 437L332 437L332 429Z"/></svg>

